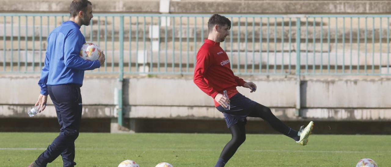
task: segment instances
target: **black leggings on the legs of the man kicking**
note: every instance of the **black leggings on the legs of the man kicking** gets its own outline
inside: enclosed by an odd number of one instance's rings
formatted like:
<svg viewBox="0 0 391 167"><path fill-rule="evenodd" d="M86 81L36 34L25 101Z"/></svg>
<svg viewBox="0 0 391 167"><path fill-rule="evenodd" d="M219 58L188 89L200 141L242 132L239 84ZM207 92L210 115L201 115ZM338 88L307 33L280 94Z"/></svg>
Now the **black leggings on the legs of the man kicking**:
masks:
<svg viewBox="0 0 391 167"><path fill-rule="evenodd" d="M271 127L280 132L287 133L289 131L289 127L286 126L280 119L278 119L271 112L269 107L265 107L259 103L256 103L253 111L248 115L249 117L260 117L264 119L267 123L271 125ZM234 124L229 129L231 131L232 139L225 145L224 149L221 151L220 158L228 162L231 157L235 154L236 150L239 146L246 140L246 123L239 122Z"/></svg>

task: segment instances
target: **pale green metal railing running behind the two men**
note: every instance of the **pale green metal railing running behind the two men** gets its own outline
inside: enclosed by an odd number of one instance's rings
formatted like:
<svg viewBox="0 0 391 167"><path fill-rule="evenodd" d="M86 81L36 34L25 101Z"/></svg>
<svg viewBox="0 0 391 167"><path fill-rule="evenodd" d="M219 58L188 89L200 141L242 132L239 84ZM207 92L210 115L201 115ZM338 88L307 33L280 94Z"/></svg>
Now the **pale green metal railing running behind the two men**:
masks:
<svg viewBox="0 0 391 167"><path fill-rule="evenodd" d="M225 15L221 43L240 75L389 75L391 15ZM88 73L191 75L209 14L94 14L82 26L106 54ZM0 73L39 73L68 14L0 14Z"/></svg>

